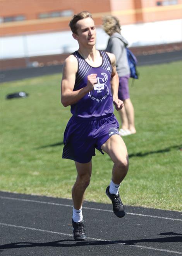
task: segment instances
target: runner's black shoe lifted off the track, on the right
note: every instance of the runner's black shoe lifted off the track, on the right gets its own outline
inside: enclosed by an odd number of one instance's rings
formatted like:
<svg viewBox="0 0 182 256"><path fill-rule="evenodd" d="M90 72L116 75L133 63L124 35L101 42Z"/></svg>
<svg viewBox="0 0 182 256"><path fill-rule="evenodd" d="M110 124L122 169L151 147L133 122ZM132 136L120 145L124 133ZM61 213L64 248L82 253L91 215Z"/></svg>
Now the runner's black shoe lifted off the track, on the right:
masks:
<svg viewBox="0 0 182 256"><path fill-rule="evenodd" d="M115 213L115 215L119 218L124 217L125 216L125 210L124 210L124 205L121 202L120 195L119 194L118 195L111 194L109 192L109 186L106 188L106 195L112 201L113 212Z"/></svg>

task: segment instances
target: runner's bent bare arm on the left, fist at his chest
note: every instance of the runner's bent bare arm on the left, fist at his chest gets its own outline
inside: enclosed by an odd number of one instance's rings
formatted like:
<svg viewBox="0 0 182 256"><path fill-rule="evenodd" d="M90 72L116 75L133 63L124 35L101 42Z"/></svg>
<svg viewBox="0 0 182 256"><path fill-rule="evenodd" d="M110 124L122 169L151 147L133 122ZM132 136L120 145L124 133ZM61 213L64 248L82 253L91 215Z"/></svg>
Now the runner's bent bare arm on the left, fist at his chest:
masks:
<svg viewBox="0 0 182 256"><path fill-rule="evenodd" d="M64 107L77 103L89 91L93 90L94 83L96 83L96 74L88 75L87 85L84 88L73 91L77 69L77 59L70 55L65 60L61 82L61 103Z"/></svg>

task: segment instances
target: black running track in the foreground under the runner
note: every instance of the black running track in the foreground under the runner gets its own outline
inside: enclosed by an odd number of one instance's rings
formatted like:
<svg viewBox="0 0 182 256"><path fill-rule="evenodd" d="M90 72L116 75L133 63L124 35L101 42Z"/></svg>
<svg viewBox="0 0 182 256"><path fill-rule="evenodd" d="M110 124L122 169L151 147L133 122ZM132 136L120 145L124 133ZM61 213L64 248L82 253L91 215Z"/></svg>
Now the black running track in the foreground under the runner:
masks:
<svg viewBox="0 0 182 256"><path fill-rule="evenodd" d="M120 219L111 204L84 202L88 239L74 241L72 200L0 193L2 256L182 255L182 213L126 206Z"/></svg>

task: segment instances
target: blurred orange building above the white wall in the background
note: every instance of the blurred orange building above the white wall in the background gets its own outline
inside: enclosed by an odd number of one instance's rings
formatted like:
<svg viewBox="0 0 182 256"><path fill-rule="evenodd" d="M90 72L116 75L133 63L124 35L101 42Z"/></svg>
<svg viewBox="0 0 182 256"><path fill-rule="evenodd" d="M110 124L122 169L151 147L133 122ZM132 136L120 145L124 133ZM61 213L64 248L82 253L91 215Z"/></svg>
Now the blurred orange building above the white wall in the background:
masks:
<svg viewBox="0 0 182 256"><path fill-rule="evenodd" d="M112 14L122 25L180 19L182 0L1 0L0 35L68 30L70 17L90 11L96 26Z"/></svg>

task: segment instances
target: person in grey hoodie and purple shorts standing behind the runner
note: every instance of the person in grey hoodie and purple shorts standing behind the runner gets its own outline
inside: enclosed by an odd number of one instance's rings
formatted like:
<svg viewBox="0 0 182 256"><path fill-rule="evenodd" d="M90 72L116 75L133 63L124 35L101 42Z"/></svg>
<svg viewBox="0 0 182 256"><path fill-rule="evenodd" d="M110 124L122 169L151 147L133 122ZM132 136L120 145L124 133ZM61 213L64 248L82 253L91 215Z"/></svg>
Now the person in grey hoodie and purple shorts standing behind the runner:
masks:
<svg viewBox="0 0 182 256"><path fill-rule="evenodd" d="M116 70L119 76L118 98L124 102L124 107L119 110L122 127L119 130L121 136L136 133L134 124L134 107L129 95L130 68L127 59L127 40L121 35L120 22L114 16L103 18L103 29L110 36L106 52L115 54Z"/></svg>

